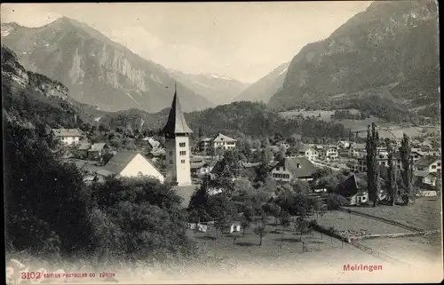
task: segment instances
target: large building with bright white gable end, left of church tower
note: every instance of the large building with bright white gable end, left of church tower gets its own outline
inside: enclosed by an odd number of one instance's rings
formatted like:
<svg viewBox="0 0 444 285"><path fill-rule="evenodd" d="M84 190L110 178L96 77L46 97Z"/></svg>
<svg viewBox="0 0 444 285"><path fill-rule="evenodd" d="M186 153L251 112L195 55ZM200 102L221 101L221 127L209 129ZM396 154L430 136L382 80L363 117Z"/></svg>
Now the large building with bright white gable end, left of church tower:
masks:
<svg viewBox="0 0 444 285"><path fill-rule="evenodd" d="M123 178L140 178L149 176L163 182L164 177L160 170L155 168L147 157L138 152L118 152L105 164L101 170L96 171L101 176L117 175Z"/></svg>

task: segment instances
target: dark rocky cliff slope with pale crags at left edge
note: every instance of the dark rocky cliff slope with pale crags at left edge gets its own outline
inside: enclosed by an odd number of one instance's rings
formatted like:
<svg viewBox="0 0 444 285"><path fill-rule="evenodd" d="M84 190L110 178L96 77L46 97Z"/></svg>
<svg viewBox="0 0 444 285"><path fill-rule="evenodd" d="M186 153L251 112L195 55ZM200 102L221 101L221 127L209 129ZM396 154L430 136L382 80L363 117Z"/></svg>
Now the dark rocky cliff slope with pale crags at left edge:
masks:
<svg viewBox="0 0 444 285"><path fill-rule="evenodd" d="M66 86L27 71L17 55L4 45L1 51L3 108L10 117L52 128L92 122L91 115L69 97Z"/></svg>

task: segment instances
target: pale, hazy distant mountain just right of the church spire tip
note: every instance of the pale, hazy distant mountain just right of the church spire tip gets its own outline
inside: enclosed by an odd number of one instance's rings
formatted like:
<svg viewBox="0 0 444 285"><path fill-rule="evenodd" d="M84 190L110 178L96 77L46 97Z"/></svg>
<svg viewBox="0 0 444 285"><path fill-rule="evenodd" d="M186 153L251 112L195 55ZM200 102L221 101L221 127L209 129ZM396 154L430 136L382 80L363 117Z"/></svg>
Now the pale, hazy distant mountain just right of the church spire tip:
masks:
<svg viewBox="0 0 444 285"><path fill-rule="evenodd" d="M216 105L231 103L239 93L250 86L249 83L222 75L188 75L177 70L170 70L170 75Z"/></svg>

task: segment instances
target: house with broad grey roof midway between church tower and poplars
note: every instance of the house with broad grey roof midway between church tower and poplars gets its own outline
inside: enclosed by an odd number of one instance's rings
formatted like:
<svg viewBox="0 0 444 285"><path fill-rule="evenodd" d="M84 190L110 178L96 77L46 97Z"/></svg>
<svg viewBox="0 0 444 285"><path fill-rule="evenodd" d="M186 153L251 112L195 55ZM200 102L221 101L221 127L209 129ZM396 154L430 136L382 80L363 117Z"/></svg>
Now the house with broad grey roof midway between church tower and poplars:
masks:
<svg viewBox="0 0 444 285"><path fill-rule="evenodd" d="M271 170L272 177L275 180L290 181L291 179L299 179L305 181L313 180L313 174L316 171L313 163L306 157L286 157Z"/></svg>

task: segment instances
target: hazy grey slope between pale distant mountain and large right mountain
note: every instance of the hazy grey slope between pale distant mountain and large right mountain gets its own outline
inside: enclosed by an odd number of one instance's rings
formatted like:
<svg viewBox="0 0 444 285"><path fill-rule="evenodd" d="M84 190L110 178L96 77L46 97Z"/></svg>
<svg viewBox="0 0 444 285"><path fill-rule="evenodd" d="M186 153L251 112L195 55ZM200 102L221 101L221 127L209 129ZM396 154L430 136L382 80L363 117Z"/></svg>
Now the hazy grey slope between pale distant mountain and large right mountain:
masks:
<svg viewBox="0 0 444 285"><path fill-rule="evenodd" d="M259 79L256 83L250 85L249 88L242 91L234 100L235 101L262 101L268 103L272 96L280 91L282 83L287 74L289 62L281 64L274 68L268 75Z"/></svg>

